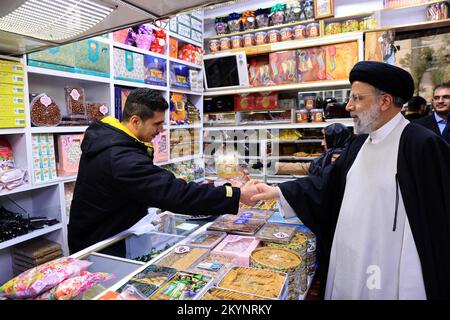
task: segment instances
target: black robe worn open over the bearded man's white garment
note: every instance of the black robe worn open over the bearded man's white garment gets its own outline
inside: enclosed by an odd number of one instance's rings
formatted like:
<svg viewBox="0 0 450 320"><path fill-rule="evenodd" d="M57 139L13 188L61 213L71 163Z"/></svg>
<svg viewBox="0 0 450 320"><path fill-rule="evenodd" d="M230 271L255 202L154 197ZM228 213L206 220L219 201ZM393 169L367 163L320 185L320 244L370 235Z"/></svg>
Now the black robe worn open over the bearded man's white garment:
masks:
<svg viewBox="0 0 450 320"><path fill-rule="evenodd" d="M279 185L298 217L317 237L322 297L347 173L366 139L367 135L357 136L325 168L322 177ZM397 177L427 299L450 299L450 146L432 131L409 123L400 137Z"/></svg>

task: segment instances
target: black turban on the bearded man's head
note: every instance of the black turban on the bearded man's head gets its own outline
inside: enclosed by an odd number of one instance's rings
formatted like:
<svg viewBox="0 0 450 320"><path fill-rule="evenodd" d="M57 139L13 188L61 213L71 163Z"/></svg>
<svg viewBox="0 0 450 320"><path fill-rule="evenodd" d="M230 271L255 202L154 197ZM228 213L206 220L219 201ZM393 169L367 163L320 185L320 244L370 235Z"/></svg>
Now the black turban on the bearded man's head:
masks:
<svg viewBox="0 0 450 320"><path fill-rule="evenodd" d="M350 83L361 81L409 101L414 94L414 81L408 71L391 64L360 61L350 71Z"/></svg>

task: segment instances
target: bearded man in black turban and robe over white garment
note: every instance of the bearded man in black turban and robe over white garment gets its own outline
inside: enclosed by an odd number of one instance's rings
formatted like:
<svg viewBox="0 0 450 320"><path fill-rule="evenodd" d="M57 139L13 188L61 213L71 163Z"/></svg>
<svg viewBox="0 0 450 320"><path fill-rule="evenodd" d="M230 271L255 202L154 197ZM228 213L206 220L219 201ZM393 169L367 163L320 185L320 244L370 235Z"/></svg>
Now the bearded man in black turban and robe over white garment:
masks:
<svg viewBox="0 0 450 320"><path fill-rule="evenodd" d="M368 134L359 134L322 177L309 176L278 188L259 184L261 193L252 199L279 197L282 206L287 201L316 234L322 297L449 299L450 147L400 114L414 88L403 69L359 62L350 82L347 110L354 117L355 132ZM371 102L364 119L355 107L357 100ZM368 119L372 121L362 128ZM374 152L380 147L392 152ZM359 194L359 189L366 192ZM384 242L386 238L395 241ZM369 265L371 259L374 265ZM383 272L390 270L381 273L381 280L370 278L377 264L383 265ZM368 267L358 270L355 265ZM348 270L359 273L346 274ZM327 279L330 274L333 279Z"/></svg>

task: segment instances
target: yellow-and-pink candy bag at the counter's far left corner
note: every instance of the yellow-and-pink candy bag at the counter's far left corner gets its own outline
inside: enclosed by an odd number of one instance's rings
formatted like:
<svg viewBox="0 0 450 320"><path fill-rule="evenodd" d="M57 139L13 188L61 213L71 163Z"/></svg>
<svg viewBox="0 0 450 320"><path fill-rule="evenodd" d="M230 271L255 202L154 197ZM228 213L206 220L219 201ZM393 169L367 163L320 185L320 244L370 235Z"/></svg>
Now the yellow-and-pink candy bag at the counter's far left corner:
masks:
<svg viewBox="0 0 450 320"><path fill-rule="evenodd" d="M27 270L0 287L6 298L33 298L69 277L79 275L92 262L63 257Z"/></svg>

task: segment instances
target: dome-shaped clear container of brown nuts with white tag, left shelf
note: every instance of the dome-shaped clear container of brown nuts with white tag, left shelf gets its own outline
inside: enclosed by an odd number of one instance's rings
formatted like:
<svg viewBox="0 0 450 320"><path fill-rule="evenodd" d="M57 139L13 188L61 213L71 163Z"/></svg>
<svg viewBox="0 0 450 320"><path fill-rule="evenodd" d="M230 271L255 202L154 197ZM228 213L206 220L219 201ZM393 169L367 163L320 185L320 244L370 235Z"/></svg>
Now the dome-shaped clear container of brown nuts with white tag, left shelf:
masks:
<svg viewBox="0 0 450 320"><path fill-rule="evenodd" d="M31 123L36 127L52 127L61 123L61 110L54 100L42 93L30 103Z"/></svg>

